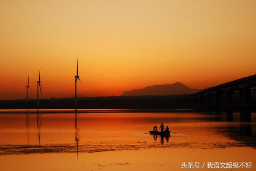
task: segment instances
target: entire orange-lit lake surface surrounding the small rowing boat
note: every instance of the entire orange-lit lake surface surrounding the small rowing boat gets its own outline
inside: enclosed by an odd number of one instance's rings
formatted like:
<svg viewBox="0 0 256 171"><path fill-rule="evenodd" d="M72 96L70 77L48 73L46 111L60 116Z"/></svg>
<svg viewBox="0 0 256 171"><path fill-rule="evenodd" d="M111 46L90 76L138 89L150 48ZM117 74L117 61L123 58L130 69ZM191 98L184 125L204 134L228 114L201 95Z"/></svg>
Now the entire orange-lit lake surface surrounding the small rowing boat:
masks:
<svg viewBox="0 0 256 171"><path fill-rule="evenodd" d="M196 161L256 168L256 113L55 112L0 113L0 170L180 170ZM161 122L170 137L148 134Z"/></svg>

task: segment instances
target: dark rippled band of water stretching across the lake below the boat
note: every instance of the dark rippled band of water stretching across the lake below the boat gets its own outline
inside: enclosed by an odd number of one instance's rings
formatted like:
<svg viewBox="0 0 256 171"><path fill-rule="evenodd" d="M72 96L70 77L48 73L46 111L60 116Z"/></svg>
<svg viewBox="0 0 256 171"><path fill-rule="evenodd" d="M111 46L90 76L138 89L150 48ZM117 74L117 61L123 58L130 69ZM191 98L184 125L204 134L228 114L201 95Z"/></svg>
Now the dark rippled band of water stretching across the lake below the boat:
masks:
<svg viewBox="0 0 256 171"><path fill-rule="evenodd" d="M76 144L48 144L48 145L0 145L0 155L20 155L32 153L95 153L101 151L116 151L116 150L138 150L146 148L227 148L244 146L239 142L218 142L218 143L156 143L146 141L134 141L124 143L123 141L112 142L88 142Z"/></svg>

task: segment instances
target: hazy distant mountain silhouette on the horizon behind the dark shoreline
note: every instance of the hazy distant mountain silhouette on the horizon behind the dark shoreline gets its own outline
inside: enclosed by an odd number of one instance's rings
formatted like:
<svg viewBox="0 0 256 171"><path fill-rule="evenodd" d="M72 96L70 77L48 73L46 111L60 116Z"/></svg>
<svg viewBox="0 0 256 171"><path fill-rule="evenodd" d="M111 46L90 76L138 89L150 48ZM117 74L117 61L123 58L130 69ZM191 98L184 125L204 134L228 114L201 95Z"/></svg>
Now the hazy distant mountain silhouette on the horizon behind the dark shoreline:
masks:
<svg viewBox="0 0 256 171"><path fill-rule="evenodd" d="M124 91L122 95L177 95L196 93L197 91L201 90L202 89L191 89L180 82L176 82L174 84L152 85L142 89Z"/></svg>

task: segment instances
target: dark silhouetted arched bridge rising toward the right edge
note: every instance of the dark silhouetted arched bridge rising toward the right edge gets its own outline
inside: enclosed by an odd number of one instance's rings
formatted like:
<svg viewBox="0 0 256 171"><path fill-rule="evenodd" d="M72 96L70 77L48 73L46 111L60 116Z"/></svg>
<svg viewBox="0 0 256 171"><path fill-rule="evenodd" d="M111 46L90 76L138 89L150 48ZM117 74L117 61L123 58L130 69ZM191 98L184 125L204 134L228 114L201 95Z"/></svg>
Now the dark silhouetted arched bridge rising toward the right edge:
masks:
<svg viewBox="0 0 256 171"><path fill-rule="evenodd" d="M251 97L255 90L253 87L256 87L256 74L204 89L184 97L182 101L193 107L232 107L236 97L238 106L251 107L255 106Z"/></svg>

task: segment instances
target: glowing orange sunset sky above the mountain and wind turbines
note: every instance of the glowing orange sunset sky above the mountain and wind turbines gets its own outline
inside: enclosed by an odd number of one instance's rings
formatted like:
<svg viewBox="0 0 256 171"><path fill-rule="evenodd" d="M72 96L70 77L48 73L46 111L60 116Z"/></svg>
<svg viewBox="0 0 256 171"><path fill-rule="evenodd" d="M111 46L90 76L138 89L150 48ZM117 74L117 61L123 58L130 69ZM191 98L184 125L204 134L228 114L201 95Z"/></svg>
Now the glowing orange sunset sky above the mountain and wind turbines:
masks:
<svg viewBox="0 0 256 171"><path fill-rule="evenodd" d="M255 0L2 0L0 99L73 97L255 74Z"/></svg>

